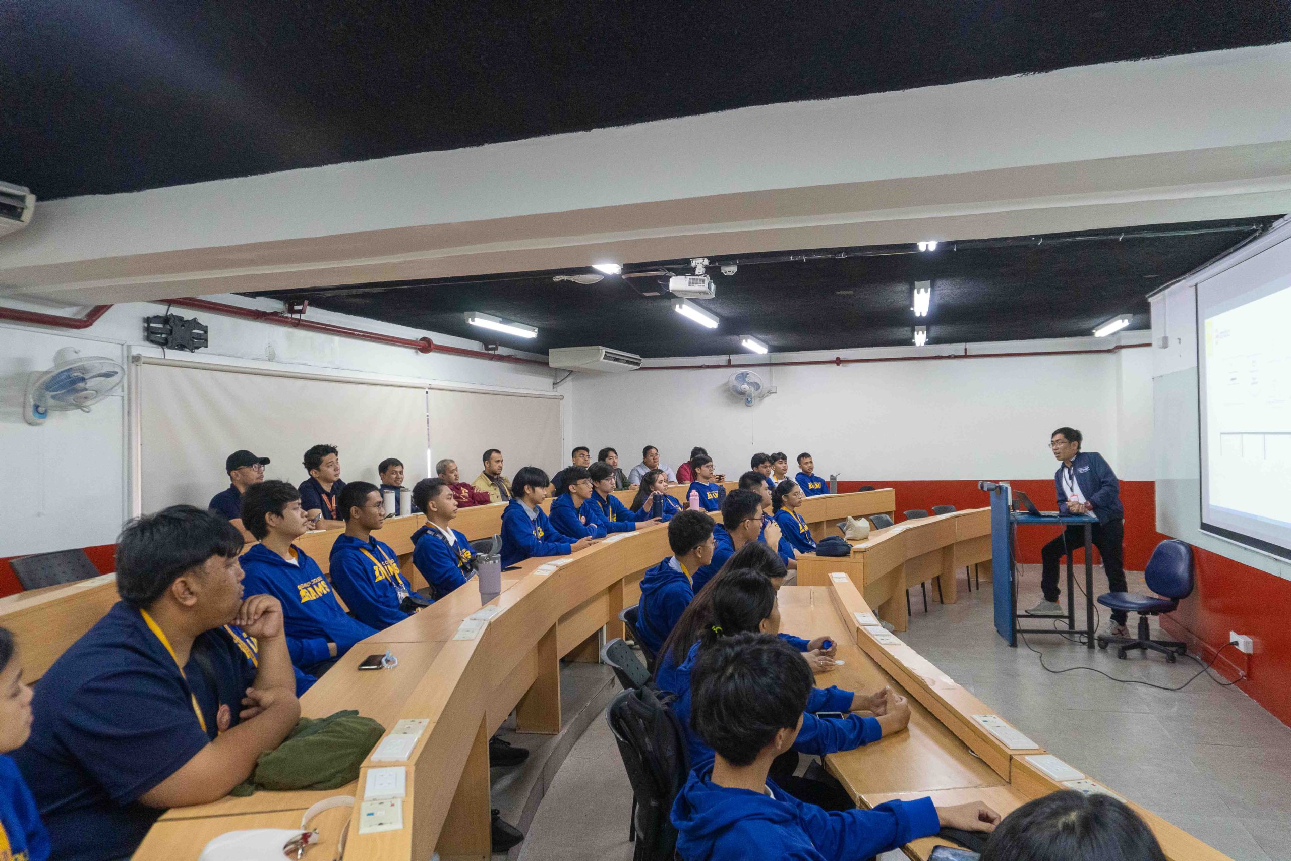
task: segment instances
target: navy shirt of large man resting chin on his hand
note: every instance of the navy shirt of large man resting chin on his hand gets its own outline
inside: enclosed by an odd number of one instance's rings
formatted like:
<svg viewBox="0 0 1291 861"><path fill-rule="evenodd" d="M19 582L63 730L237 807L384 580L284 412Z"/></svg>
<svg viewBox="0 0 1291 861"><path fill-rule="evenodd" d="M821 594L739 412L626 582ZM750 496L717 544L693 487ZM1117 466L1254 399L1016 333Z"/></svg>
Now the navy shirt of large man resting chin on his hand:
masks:
<svg viewBox="0 0 1291 861"><path fill-rule="evenodd" d="M36 684L31 738L13 758L49 829L53 857L129 856L164 812L139 796L216 737L222 705L236 723L240 688L254 673L239 667L240 653L218 629L194 642L198 653L209 670L190 660L190 688L139 611L117 602Z"/></svg>

